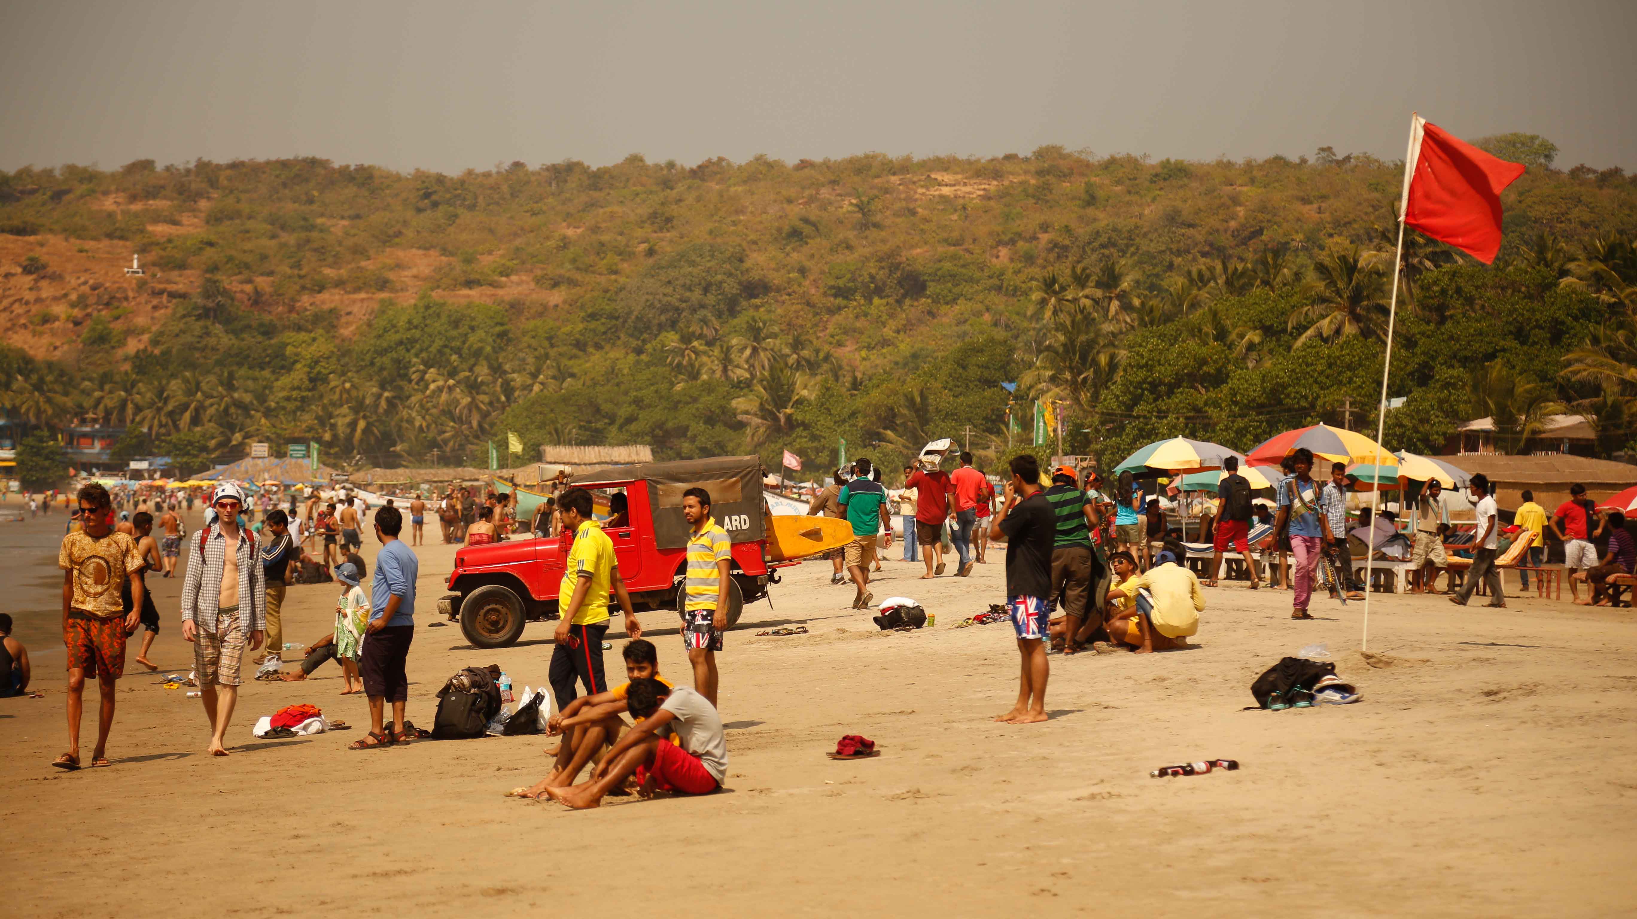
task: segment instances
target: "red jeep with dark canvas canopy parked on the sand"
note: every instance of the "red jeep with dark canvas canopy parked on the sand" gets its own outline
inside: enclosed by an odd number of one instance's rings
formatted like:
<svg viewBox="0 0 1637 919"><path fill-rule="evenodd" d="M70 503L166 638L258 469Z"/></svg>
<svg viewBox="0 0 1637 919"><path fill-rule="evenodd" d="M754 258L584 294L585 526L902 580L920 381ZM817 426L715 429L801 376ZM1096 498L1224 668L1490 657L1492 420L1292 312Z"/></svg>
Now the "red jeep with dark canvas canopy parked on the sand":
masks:
<svg viewBox="0 0 1637 919"><path fill-rule="evenodd" d="M570 478L570 485L625 495L629 519L619 521L625 526L604 521L602 531L614 541L620 578L638 611L681 609L689 531L683 491L694 485L710 493L710 516L733 542L728 627L738 622L745 603L761 600L779 580L766 559L760 457L594 469ZM521 511L517 516L527 519ZM573 539L571 532L557 539L525 536L460 549L449 575L455 593L439 600L439 613L458 621L476 647L514 644L524 622L558 618L557 591ZM612 608L612 596L609 603Z"/></svg>

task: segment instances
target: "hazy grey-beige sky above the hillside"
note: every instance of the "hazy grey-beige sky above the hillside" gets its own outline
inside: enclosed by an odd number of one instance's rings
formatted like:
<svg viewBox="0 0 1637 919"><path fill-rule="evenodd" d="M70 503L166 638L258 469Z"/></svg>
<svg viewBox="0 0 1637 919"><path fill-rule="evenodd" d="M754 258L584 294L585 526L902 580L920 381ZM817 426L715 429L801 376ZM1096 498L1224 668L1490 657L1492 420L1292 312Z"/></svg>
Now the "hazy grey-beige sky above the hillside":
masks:
<svg viewBox="0 0 1637 919"><path fill-rule="evenodd" d="M0 169L866 151L1398 159L1411 110L1637 167L1637 2L8 2Z"/></svg>

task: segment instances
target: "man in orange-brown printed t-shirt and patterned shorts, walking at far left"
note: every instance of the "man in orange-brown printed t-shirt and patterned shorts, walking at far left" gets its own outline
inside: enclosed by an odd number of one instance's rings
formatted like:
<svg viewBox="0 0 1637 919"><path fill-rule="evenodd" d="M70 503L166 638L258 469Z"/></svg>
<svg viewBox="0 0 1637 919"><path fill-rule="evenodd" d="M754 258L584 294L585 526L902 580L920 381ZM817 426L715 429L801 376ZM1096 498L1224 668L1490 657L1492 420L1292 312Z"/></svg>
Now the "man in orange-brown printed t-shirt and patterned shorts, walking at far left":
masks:
<svg viewBox="0 0 1637 919"><path fill-rule="evenodd" d="M80 488L80 526L62 537L62 644L69 649L69 752L51 765L80 768L80 716L85 713L85 677L97 677L101 708L97 714L93 767L108 763L108 729L113 727L115 680L124 673L124 632L134 629L147 596L142 554L136 541L113 531L113 500L95 482ZM131 613L121 593L131 583Z"/></svg>

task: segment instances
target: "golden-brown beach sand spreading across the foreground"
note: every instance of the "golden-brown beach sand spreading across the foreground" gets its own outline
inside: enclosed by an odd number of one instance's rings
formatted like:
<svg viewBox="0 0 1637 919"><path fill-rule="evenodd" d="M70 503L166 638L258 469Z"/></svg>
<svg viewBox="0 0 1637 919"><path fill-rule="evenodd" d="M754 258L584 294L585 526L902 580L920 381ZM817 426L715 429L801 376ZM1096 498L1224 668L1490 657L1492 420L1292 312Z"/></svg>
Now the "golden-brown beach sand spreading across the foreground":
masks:
<svg viewBox="0 0 1637 919"><path fill-rule="evenodd" d="M503 650L427 627L453 552L434 544L419 555L409 718L431 727L432 695L460 667L499 663L519 690L545 681L550 624ZM851 586L828 585L828 564L786 568L776 606L750 606L720 655L725 791L586 813L503 798L543 775L545 737L345 750L368 713L362 696L337 696L334 665L304 683L249 681L232 755L211 758L200 703L128 663L113 767L62 773L47 765L65 742L61 645L20 634L57 652L36 650L46 698L0 699L7 912L1637 909L1630 609L1572 606L1567 591L1516 596L1501 611L1375 595L1365 659L1362 603L1315 600L1318 621L1295 622L1290 593L1231 585L1206 590L1195 649L1053 657L1051 721L1007 726L990 718L1017 693L1010 626L954 627L1003 600L1003 550L971 578L936 582L915 580L920 565L897 560L897 546L886 555L876 596L917 598L936 627L877 632L848 609ZM1506 583L1516 586L1511 573ZM180 578L157 585L156 660L185 670ZM334 585L293 586L286 641L322 636L334 595ZM661 672L691 683L674 614L642 622ZM812 634L753 637L787 622ZM617 673L617 624L611 639ZM1364 701L1241 711L1257 673L1311 642L1328 642ZM357 727L250 737L257 716L291 703ZM85 755L93 713L88 688ZM825 758L841 734L874 739L882 755ZM1198 758L1242 768L1148 776Z"/></svg>

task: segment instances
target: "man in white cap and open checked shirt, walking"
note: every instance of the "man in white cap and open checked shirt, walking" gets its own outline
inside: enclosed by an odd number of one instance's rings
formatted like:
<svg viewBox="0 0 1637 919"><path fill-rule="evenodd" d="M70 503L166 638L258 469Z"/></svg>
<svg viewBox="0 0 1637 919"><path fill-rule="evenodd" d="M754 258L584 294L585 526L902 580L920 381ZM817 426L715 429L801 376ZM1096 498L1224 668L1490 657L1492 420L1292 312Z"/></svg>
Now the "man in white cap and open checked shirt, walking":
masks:
<svg viewBox="0 0 1637 919"><path fill-rule="evenodd" d="M223 739L239 701L239 662L267 629L267 580L255 537L239 527L244 491L224 483L211 495L216 521L193 542L182 582L182 637L193 642L193 670L211 721L210 754L226 757Z"/></svg>

